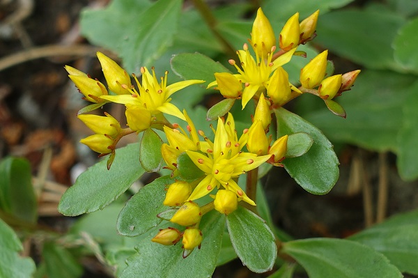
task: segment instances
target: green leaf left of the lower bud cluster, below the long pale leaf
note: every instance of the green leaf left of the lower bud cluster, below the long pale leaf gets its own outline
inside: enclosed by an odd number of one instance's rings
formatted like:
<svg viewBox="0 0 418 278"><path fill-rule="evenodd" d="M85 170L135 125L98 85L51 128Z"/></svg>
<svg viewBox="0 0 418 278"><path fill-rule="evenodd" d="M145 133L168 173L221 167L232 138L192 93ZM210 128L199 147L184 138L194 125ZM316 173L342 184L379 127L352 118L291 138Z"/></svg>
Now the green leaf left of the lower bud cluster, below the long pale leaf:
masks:
<svg viewBox="0 0 418 278"><path fill-rule="evenodd" d="M166 186L173 182L169 176L163 176L134 194L118 217L118 232L127 236L141 235L160 224L162 219L157 214L168 209L162 202Z"/></svg>

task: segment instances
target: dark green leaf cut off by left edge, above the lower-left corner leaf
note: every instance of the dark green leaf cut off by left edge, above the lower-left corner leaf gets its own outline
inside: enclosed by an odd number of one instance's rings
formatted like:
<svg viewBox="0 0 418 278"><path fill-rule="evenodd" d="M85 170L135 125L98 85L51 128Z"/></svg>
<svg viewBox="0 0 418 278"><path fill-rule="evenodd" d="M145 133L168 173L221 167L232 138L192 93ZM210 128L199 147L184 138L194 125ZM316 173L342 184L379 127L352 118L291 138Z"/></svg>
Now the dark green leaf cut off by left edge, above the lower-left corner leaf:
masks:
<svg viewBox="0 0 418 278"><path fill-rule="evenodd" d="M30 223L38 219L31 165L24 158L6 157L0 162L0 208Z"/></svg>

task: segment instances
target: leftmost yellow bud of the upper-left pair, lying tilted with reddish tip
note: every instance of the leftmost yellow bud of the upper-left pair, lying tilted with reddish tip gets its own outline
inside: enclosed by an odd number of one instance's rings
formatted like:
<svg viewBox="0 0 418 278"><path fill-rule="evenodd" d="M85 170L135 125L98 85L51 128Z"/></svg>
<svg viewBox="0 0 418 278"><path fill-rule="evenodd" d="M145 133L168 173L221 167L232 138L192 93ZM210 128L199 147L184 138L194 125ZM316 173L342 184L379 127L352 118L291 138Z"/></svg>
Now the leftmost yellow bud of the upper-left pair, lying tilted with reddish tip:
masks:
<svg viewBox="0 0 418 278"><path fill-rule="evenodd" d="M100 98L102 95L107 95L106 88L101 82L98 82L98 80L83 75L68 75L68 77L70 77L80 93L82 93L89 102L97 103L97 98ZM93 97L91 95L93 95Z"/></svg>

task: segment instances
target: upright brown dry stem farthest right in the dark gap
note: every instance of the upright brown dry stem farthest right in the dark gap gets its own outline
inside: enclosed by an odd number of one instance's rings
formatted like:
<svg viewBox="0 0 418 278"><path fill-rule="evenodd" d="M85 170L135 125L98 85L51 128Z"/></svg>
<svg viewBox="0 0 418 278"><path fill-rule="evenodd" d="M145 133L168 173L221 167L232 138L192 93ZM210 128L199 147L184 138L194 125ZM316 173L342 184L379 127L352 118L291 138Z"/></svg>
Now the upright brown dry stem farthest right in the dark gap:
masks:
<svg viewBox="0 0 418 278"><path fill-rule="evenodd" d="M376 223L382 222L386 217L388 189L387 153L379 153L379 191Z"/></svg>

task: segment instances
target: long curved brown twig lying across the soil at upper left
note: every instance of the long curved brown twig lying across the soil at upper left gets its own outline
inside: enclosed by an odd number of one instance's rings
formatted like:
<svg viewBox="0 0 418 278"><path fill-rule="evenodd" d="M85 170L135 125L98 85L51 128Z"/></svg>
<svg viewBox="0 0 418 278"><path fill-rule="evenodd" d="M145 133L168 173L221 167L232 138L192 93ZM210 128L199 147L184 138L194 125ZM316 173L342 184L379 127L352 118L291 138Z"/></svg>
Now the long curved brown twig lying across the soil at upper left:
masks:
<svg viewBox="0 0 418 278"><path fill-rule="evenodd" d="M95 56L100 48L91 45L45 45L23 50L0 59L0 71L27 61L52 56Z"/></svg>

